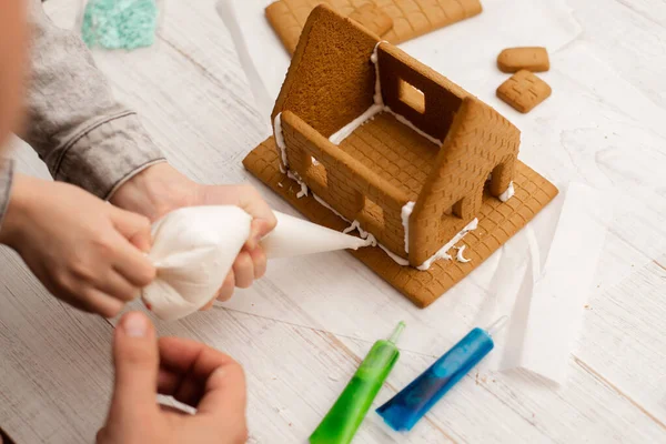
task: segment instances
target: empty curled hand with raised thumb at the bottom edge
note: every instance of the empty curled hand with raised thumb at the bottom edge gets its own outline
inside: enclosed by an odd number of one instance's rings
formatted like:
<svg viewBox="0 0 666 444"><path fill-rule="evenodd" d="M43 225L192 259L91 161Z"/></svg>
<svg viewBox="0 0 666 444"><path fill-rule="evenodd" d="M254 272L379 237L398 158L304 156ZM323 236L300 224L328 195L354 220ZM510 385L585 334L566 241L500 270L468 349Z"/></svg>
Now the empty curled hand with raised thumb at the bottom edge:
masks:
<svg viewBox="0 0 666 444"><path fill-rule="evenodd" d="M113 337L115 385L98 444L244 443L245 377L231 357L176 337L159 341L148 317L125 314ZM157 394L196 408L160 406Z"/></svg>

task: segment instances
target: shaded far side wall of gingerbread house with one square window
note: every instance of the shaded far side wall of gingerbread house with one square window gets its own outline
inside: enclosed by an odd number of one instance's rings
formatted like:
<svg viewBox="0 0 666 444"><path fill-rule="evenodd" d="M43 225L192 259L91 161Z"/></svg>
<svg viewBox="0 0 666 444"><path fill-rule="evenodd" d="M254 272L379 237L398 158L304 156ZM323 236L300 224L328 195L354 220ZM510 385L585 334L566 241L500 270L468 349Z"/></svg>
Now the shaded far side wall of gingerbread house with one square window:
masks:
<svg viewBox="0 0 666 444"><path fill-rule="evenodd" d="M393 46L380 46L377 56L384 103L420 130L443 141L463 99L470 94ZM401 82L405 82L407 94L413 100L418 100L416 90L423 92L421 101L424 110L416 110L405 102L401 97Z"/></svg>

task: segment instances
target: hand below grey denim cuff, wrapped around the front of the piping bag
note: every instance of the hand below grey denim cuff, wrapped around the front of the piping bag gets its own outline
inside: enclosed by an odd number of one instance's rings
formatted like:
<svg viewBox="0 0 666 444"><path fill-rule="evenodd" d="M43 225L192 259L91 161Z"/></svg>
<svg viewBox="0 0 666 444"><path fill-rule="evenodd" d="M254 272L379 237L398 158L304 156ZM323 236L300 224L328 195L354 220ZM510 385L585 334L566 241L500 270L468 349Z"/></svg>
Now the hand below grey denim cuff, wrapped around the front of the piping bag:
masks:
<svg viewBox="0 0 666 444"><path fill-rule="evenodd" d="M153 222L182 206L240 206L253 216L251 235L216 299L229 300L234 287L251 286L266 271L266 256L259 246L259 241L275 228L278 221L271 208L251 185L201 185L168 163L159 163L120 186L111 198L111 203L143 214ZM212 304L213 301L204 310Z"/></svg>

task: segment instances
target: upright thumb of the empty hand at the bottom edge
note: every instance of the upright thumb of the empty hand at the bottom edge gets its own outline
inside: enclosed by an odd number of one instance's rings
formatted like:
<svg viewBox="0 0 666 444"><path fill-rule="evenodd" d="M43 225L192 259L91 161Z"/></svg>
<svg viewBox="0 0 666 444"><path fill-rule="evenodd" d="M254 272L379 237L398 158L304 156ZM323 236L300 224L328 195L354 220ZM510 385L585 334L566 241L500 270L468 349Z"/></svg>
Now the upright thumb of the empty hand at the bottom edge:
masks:
<svg viewBox="0 0 666 444"><path fill-rule="evenodd" d="M157 411L158 341L152 323L143 313L127 313L115 327L113 366L115 383L110 422L145 417L151 410Z"/></svg>

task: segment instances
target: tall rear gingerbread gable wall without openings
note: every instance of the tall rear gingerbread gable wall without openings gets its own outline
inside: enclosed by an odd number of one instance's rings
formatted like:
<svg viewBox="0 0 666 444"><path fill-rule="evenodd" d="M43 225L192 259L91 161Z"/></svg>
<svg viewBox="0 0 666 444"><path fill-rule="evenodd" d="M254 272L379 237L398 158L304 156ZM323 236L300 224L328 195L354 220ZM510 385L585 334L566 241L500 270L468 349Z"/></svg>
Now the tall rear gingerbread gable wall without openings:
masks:
<svg viewBox="0 0 666 444"><path fill-rule="evenodd" d="M272 117L292 111L329 138L373 104L379 38L326 7L312 12L303 36Z"/></svg>

